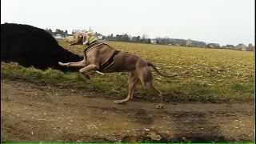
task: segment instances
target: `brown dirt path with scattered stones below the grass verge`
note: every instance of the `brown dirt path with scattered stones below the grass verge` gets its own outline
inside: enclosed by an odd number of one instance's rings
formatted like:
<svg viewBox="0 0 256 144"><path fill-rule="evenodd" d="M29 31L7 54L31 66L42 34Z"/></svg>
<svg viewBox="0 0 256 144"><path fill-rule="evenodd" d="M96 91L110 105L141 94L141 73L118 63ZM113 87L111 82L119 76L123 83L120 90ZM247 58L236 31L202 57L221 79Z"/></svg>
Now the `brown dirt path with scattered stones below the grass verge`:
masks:
<svg viewBox="0 0 256 144"><path fill-rule="evenodd" d="M251 142L254 104L129 102L1 81L1 141Z"/></svg>

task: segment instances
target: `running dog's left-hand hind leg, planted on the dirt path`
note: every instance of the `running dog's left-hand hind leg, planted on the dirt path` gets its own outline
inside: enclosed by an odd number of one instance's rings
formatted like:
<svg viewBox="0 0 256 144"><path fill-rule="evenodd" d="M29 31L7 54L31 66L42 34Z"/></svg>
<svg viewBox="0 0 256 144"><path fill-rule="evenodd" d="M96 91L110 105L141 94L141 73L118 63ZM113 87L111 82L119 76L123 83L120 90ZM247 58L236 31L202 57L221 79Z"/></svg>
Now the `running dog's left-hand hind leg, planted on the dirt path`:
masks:
<svg viewBox="0 0 256 144"><path fill-rule="evenodd" d="M125 102L128 102L128 101L132 100L132 98L134 97L134 89L136 87L136 84L138 83L138 80L139 80L138 77L134 73L129 72L129 78L128 78L129 92L128 92L128 95L125 99L114 101L114 103L122 104L122 103L125 103Z"/></svg>

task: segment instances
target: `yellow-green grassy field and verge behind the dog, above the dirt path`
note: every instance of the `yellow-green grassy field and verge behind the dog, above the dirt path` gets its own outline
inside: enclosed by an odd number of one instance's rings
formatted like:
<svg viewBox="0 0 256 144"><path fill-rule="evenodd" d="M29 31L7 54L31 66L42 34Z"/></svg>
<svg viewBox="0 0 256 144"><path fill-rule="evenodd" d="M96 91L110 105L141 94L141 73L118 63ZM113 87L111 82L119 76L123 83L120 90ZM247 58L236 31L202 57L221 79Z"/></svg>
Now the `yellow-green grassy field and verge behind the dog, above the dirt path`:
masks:
<svg viewBox="0 0 256 144"><path fill-rule="evenodd" d="M66 50L82 54L82 46L68 46ZM254 53L235 50L214 50L162 46L129 42L107 42L118 50L141 55L175 78L162 78L154 73L154 86L161 90L167 102L233 102L254 98ZM93 74L87 80L76 72L25 68L17 63L1 65L1 78L22 78L29 82L46 82L54 86L86 91L98 91L111 97L126 97L126 73ZM152 101L158 99L150 90L137 86L135 97Z"/></svg>

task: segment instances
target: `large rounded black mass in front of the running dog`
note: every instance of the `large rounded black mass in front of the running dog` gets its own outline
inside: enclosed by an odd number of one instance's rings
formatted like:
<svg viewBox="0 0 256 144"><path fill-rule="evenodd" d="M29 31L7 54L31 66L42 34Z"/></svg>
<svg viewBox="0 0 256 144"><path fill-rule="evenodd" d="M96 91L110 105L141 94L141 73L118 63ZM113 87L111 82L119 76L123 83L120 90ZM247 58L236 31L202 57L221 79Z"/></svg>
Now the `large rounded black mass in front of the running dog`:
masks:
<svg viewBox="0 0 256 144"><path fill-rule="evenodd" d="M67 70L58 66L61 62L82 60L58 45L46 30L14 23L1 24L1 61L18 62L22 66L47 67Z"/></svg>

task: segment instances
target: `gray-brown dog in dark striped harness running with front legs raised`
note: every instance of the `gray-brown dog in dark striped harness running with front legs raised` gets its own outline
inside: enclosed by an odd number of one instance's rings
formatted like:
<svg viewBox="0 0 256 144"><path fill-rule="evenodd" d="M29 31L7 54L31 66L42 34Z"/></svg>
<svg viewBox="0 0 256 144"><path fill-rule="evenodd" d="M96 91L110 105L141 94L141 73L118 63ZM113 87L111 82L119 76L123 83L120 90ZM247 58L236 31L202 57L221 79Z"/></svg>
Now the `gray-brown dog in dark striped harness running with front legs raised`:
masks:
<svg viewBox="0 0 256 144"><path fill-rule="evenodd" d="M101 42L90 42L90 34L78 34L75 42L70 45L88 45L84 51L84 58L80 62L58 62L60 66L76 66L82 67L79 72L89 77L89 71L99 71L98 73L113 73L126 71L129 74L128 84L129 93L126 98L114 101L114 103L125 103L133 99L134 89L138 81L142 82L147 89L154 90L155 94L160 97L160 104L157 108L163 108L162 94L153 86L153 76L150 66L164 77L174 77L161 74L157 68L150 62L146 62L141 57L123 51L114 50L111 46Z"/></svg>

